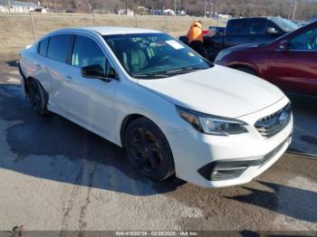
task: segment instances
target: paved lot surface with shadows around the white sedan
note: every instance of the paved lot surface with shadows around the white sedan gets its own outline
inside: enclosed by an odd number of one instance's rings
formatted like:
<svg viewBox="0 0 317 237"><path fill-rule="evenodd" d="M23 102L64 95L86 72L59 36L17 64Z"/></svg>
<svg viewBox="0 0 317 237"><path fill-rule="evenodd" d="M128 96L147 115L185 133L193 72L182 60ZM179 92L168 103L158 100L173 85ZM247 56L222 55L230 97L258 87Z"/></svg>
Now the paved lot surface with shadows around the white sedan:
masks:
<svg viewBox="0 0 317 237"><path fill-rule="evenodd" d="M317 231L316 102L293 99L290 150L250 184L153 183L120 147L60 116L35 116L16 60L0 55L0 230Z"/></svg>

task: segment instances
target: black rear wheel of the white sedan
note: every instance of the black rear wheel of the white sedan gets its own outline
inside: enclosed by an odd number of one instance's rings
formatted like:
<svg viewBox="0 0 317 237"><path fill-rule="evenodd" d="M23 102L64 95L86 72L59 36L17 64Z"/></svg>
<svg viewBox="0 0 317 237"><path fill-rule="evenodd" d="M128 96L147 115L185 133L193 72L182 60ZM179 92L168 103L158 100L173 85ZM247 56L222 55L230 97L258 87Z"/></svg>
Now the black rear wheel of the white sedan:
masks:
<svg viewBox="0 0 317 237"><path fill-rule="evenodd" d="M41 83L35 79L29 79L28 89L29 100L35 113L41 116L48 114L49 111L47 110L47 99L45 96L46 92Z"/></svg>

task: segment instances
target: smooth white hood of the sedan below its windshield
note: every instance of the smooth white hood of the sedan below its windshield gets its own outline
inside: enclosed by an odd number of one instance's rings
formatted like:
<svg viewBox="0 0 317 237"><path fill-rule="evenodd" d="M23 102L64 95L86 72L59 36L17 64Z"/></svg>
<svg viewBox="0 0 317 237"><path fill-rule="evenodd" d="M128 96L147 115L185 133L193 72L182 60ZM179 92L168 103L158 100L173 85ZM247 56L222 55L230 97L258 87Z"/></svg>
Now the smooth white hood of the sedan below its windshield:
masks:
<svg viewBox="0 0 317 237"><path fill-rule="evenodd" d="M138 80L138 83L176 105L228 118L264 109L284 96L267 81L217 65L169 78Z"/></svg>

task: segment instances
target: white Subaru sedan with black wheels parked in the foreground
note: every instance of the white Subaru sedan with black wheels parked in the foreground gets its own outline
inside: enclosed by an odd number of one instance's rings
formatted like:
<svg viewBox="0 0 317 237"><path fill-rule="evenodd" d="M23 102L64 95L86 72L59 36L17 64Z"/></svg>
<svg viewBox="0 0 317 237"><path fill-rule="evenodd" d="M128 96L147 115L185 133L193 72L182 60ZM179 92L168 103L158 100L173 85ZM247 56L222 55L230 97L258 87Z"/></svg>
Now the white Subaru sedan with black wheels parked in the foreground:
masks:
<svg viewBox="0 0 317 237"><path fill-rule="evenodd" d="M241 185L291 142L281 90L213 65L166 33L59 30L22 51L19 67L38 114L53 111L124 147L153 180L176 174L205 187Z"/></svg>

